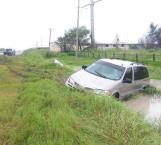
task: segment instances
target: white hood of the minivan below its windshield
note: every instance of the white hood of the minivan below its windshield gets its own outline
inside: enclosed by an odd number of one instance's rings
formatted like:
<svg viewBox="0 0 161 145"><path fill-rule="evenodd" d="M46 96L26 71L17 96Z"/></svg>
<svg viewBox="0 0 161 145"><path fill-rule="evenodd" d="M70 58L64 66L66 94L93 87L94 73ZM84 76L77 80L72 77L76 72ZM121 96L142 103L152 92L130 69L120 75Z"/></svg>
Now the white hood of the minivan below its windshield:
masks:
<svg viewBox="0 0 161 145"><path fill-rule="evenodd" d="M111 90L119 82L96 76L85 70L74 73L71 75L71 79L82 88L100 90Z"/></svg>

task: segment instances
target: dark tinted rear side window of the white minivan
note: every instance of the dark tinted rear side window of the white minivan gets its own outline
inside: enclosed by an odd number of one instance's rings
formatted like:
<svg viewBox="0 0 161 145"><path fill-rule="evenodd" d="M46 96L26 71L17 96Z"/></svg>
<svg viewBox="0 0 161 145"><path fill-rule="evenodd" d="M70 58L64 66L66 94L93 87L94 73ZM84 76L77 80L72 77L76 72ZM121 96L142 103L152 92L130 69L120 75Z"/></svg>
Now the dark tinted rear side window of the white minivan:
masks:
<svg viewBox="0 0 161 145"><path fill-rule="evenodd" d="M141 66L134 67L134 80L141 80L148 77L149 77L149 73L147 68L141 67Z"/></svg>

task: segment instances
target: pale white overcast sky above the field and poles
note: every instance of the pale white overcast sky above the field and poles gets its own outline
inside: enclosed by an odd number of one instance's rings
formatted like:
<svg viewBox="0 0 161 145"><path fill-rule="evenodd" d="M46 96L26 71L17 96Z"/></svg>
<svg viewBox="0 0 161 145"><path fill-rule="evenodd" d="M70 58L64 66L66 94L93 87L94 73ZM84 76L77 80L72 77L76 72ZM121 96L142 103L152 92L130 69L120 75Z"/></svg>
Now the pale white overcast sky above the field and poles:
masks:
<svg viewBox="0 0 161 145"><path fill-rule="evenodd" d="M80 0L81 5L90 0ZM160 0L103 0L95 5L96 42L137 42L151 22L161 24ZM48 45L76 26L77 0L0 0L0 48L22 50ZM80 25L90 29L89 7L80 10Z"/></svg>

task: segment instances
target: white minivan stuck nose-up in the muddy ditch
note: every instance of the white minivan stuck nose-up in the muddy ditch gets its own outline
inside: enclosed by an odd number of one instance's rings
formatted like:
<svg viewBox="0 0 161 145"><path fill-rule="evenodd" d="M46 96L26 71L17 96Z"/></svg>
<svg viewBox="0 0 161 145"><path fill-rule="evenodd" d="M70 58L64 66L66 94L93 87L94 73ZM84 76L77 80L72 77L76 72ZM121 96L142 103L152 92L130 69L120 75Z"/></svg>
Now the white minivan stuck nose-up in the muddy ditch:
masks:
<svg viewBox="0 0 161 145"><path fill-rule="evenodd" d="M91 90L97 94L123 99L149 85L149 73L143 64L118 59L100 59L82 66L66 81L66 86Z"/></svg>

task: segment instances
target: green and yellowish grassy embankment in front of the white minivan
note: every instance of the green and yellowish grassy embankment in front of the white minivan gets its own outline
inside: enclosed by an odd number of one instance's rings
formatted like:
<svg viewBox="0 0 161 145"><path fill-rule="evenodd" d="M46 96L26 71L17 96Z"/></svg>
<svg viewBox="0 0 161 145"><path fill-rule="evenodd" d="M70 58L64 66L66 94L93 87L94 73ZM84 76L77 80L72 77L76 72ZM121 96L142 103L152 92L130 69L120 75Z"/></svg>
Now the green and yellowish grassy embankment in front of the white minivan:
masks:
<svg viewBox="0 0 161 145"><path fill-rule="evenodd" d="M120 102L66 88L71 70L52 61L43 51L0 58L0 144L160 144L160 129Z"/></svg>

